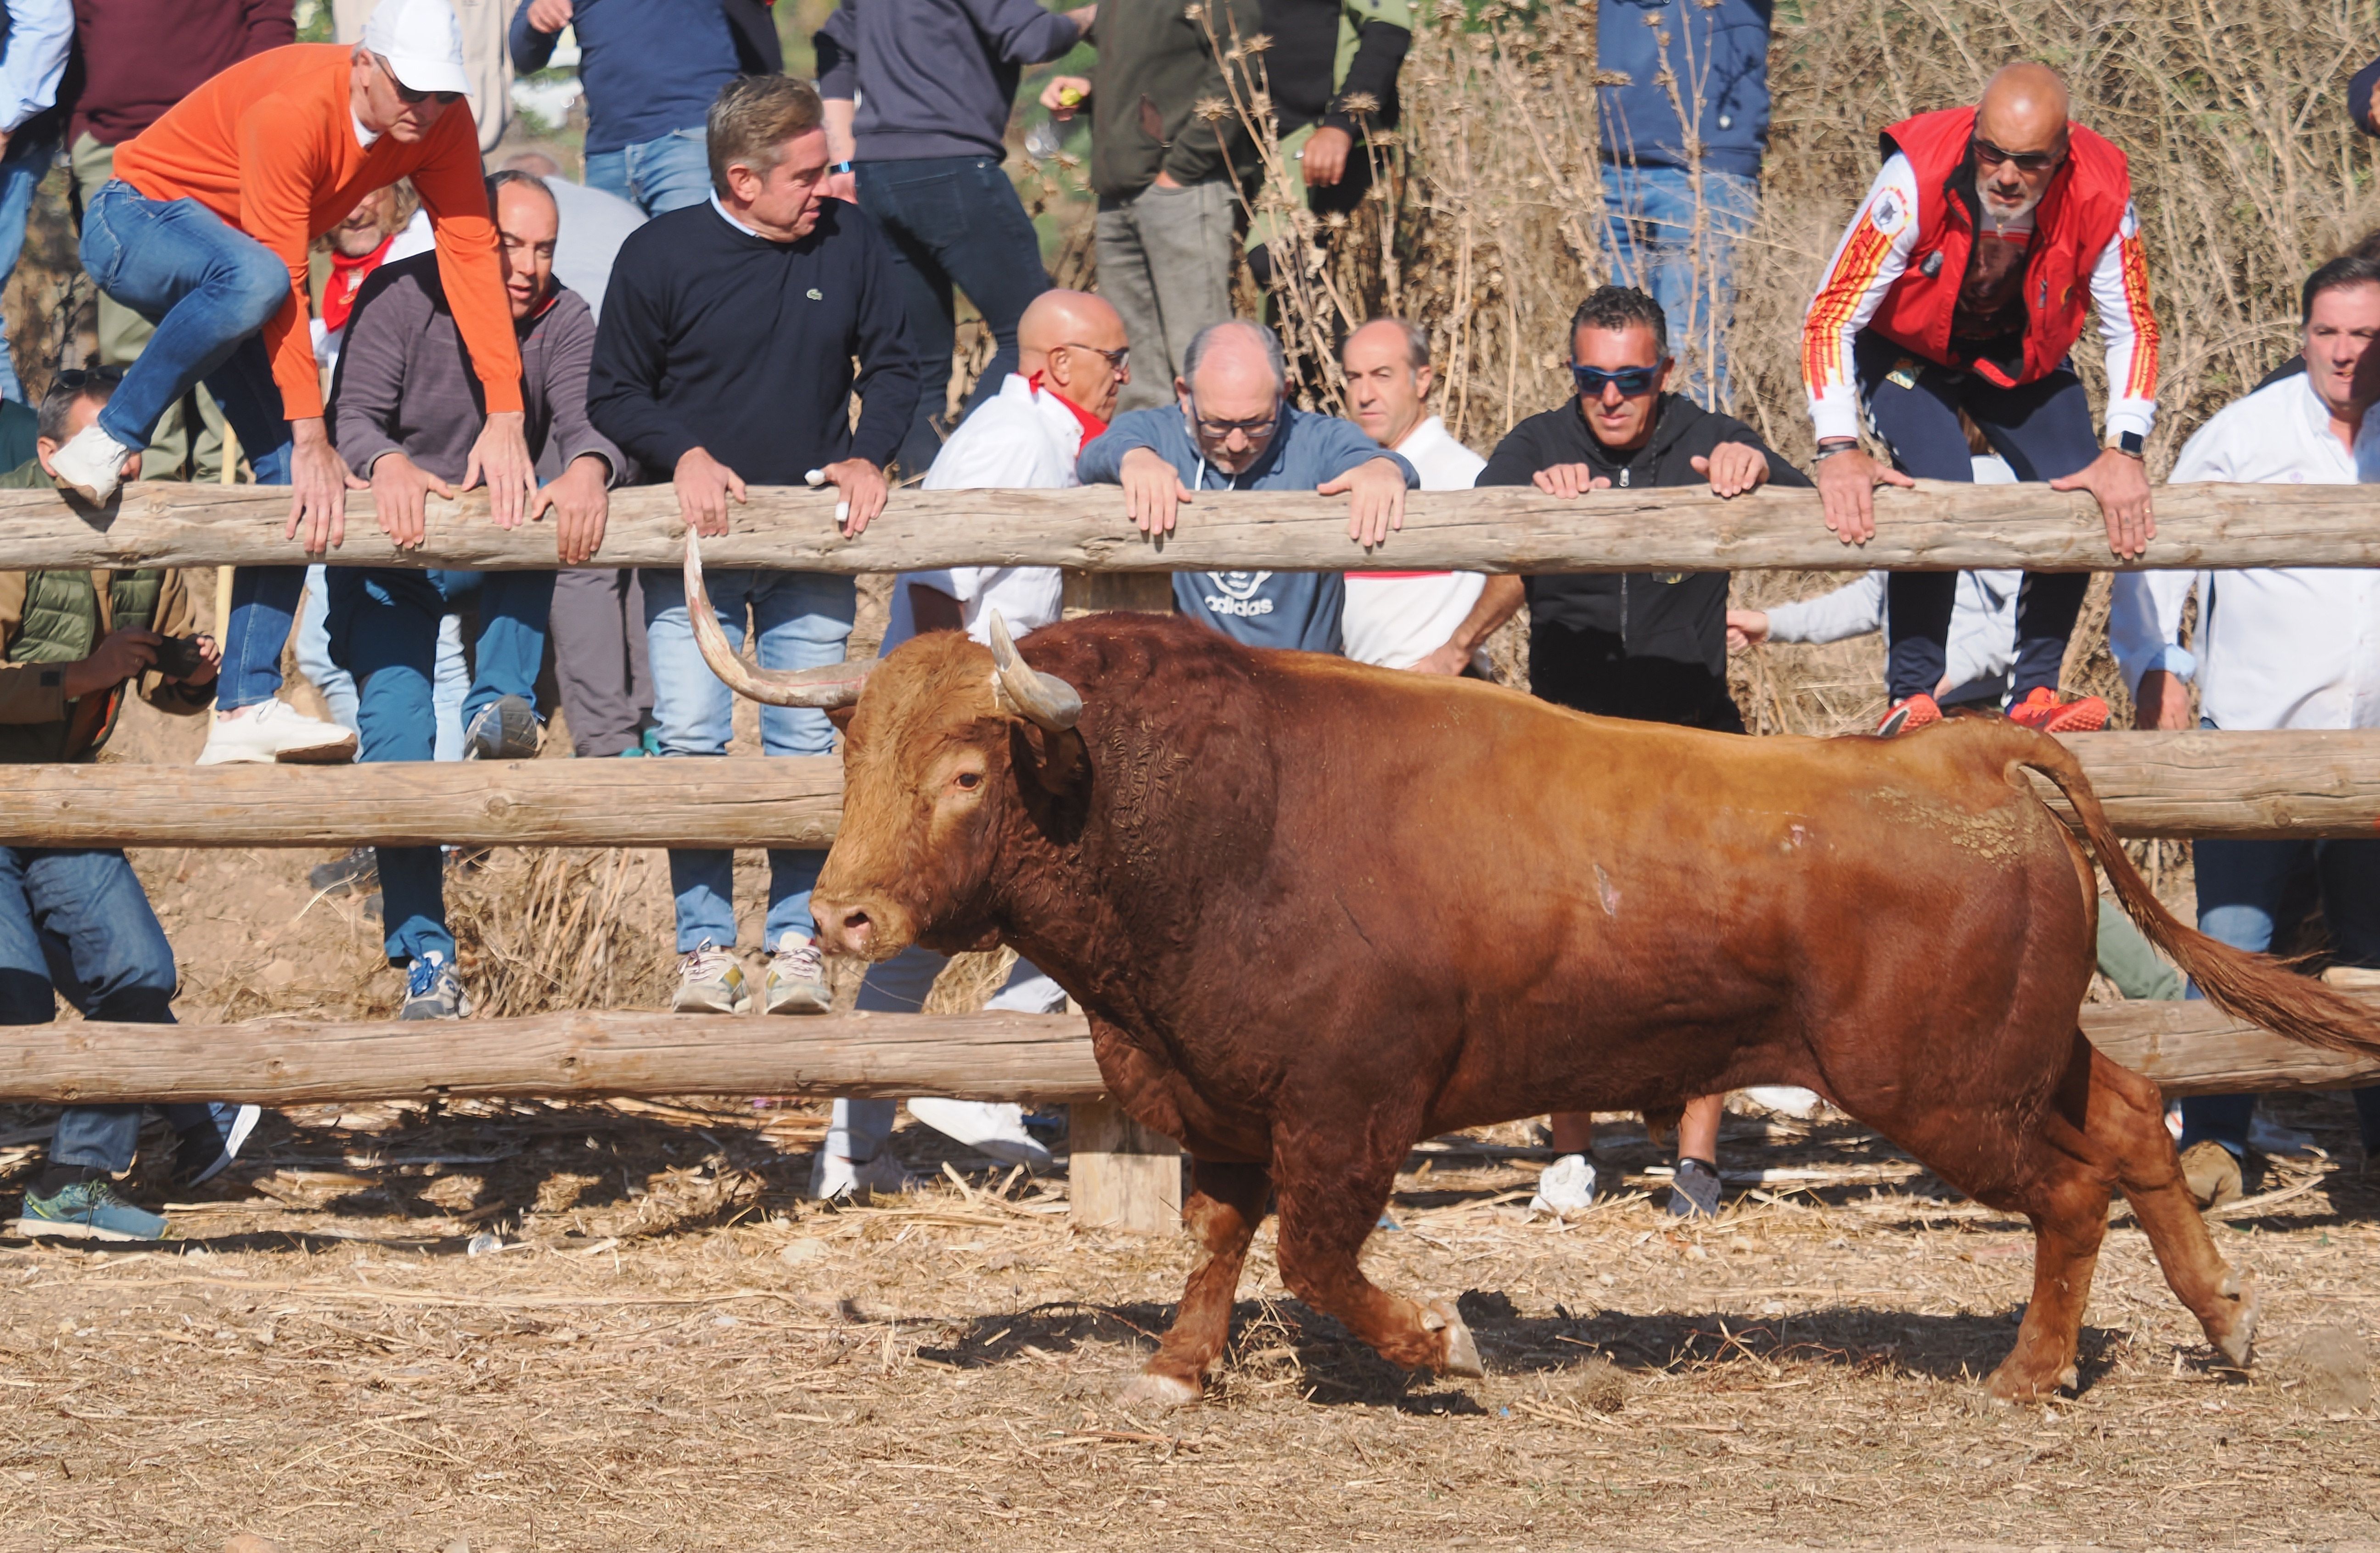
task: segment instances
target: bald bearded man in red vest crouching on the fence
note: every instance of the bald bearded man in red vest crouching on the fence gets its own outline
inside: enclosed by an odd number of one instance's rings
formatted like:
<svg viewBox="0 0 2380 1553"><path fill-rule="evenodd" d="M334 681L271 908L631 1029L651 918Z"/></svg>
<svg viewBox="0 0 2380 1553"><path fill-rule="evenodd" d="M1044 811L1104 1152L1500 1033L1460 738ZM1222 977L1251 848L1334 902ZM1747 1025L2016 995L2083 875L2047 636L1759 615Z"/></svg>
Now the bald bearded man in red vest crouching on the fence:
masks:
<svg viewBox="0 0 2380 1553"><path fill-rule="evenodd" d="M1973 480L1964 409L2018 480L2087 490L2106 540L2135 557L2156 535L2142 442L2156 419L2156 316L2123 152L2066 121L2047 64L2009 64L1978 107L1904 119L1883 133L1885 169L1852 219L1802 323L1802 385L1818 428L1825 526L1847 545L1875 533L1875 485ZM2106 342L2106 440L2068 361L2082 312ZM1861 409L1892 454L1859 445ZM1878 733L1942 716L1956 573L1887 583L1892 711ZM2028 573L2016 606L2009 716L2090 733L2106 702L2059 702L2059 666L2090 576Z"/></svg>

